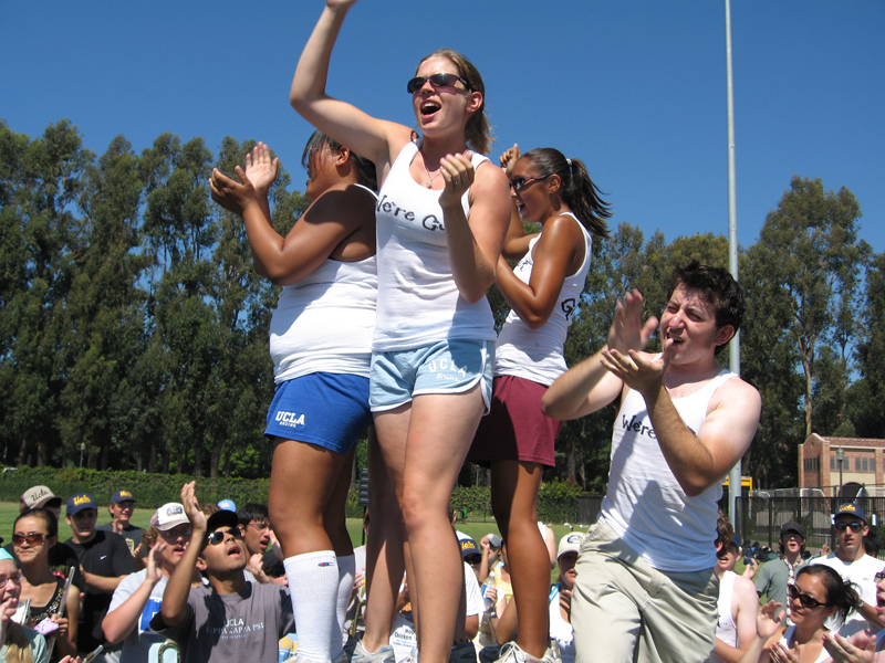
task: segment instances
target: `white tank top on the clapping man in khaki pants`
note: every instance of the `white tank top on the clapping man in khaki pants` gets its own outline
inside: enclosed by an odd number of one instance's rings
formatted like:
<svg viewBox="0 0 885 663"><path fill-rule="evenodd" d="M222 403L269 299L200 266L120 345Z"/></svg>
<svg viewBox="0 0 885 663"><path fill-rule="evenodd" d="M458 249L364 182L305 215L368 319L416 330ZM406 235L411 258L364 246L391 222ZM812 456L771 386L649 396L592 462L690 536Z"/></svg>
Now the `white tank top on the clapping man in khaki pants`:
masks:
<svg viewBox="0 0 885 663"><path fill-rule="evenodd" d="M707 418L714 392L735 377L722 370L685 398L673 399L694 432ZM719 482L697 497L685 494L655 438L645 400L634 389L617 412L612 433L612 467L600 518L643 560L659 571L691 572L716 564Z"/></svg>

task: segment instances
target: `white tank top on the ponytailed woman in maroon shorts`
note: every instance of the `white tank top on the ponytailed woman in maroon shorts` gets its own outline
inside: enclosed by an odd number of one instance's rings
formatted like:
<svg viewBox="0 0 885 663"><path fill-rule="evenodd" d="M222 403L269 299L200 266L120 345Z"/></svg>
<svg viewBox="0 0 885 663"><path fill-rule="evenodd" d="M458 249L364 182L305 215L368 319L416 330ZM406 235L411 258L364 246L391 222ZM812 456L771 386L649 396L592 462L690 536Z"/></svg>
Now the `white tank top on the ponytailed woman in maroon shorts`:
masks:
<svg viewBox="0 0 885 663"><path fill-rule="evenodd" d="M563 215L574 219L581 232L584 233L586 244L584 262L574 274L565 277L553 313L541 328L530 329L516 311L510 312L501 327L498 346L494 350L496 376L517 376L550 387L568 368L562 346L565 344L565 334L569 325L572 324L574 312L577 311L581 292L584 290L584 282L590 271L593 257L593 236L577 220L577 217L571 212ZM542 229L541 233L543 234L543 232ZM532 276L534 264L532 252L540 239L541 234L532 238L529 242L529 251L513 269L513 274L523 283L529 283Z"/></svg>

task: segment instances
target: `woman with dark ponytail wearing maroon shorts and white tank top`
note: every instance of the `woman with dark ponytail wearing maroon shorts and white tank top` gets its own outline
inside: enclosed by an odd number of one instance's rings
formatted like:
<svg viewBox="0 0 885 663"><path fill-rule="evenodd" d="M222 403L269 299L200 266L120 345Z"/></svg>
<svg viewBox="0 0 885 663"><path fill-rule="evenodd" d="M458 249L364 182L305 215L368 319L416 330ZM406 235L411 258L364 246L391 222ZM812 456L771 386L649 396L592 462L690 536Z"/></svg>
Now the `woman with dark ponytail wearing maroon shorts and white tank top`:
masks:
<svg viewBox="0 0 885 663"><path fill-rule="evenodd" d="M491 466L492 512L508 541L519 613L519 663L548 649L549 556L538 528L538 491L562 423L541 412L548 387L566 370L565 334L584 288L593 238L608 236L608 204L577 159L553 148L501 157L510 179L512 214L498 287L511 312L498 337L491 412L479 425L469 459ZM521 217L521 218L520 218ZM524 234L522 223L541 231ZM519 260L510 269L504 259Z"/></svg>

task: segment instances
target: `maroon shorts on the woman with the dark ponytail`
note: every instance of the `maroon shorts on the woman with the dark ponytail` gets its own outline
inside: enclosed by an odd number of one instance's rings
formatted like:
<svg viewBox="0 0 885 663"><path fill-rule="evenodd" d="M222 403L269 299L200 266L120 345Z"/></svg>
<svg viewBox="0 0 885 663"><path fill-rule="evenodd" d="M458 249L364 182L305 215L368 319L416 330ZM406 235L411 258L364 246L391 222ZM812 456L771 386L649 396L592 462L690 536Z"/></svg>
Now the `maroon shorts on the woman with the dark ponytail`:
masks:
<svg viewBox="0 0 885 663"><path fill-rule="evenodd" d="M496 377L491 411L479 422L467 459L485 466L491 461L555 466L553 443L562 422L541 412L541 398L546 389L516 376Z"/></svg>

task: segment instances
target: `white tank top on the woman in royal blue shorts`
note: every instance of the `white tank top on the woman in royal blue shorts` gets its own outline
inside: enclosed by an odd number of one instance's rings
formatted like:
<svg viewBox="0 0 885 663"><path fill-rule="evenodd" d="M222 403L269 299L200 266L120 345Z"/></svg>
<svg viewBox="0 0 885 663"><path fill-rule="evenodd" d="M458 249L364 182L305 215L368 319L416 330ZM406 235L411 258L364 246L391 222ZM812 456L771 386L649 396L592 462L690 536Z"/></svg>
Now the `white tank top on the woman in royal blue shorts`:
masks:
<svg viewBox="0 0 885 663"><path fill-rule="evenodd" d="M274 382L321 371L367 378L377 291L374 255L329 259L284 286L270 322Z"/></svg>

